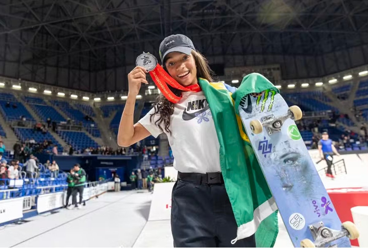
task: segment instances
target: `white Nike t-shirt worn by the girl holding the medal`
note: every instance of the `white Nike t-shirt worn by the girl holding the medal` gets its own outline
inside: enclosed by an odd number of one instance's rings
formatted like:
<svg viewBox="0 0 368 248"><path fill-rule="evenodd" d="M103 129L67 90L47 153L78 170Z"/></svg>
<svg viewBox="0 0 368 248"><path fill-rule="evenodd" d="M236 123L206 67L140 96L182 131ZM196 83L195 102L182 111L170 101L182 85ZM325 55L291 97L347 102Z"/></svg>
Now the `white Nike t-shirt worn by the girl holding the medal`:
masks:
<svg viewBox="0 0 368 248"><path fill-rule="evenodd" d="M152 108L141 120L153 137L161 133L155 121L150 122ZM164 125L162 124L164 130ZM220 144L215 124L203 91L183 92L183 98L174 105L170 118L170 135L165 130L174 156L174 168L180 172L217 172L220 168Z"/></svg>

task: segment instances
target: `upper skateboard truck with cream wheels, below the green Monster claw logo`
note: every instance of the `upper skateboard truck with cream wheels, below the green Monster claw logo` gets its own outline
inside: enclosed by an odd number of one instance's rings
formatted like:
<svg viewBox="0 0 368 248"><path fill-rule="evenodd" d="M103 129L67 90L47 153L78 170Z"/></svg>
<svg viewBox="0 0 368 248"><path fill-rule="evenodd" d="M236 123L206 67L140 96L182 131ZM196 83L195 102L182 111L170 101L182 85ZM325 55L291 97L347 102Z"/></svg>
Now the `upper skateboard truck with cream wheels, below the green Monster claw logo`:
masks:
<svg viewBox="0 0 368 248"><path fill-rule="evenodd" d="M298 106L291 106L285 115L277 117L274 115L264 116L261 121L256 119L251 120L250 126L252 132L255 134L261 133L263 127L265 127L268 135L272 135L273 133L281 131L282 124L286 119L300 120L301 117L302 112L300 108Z"/></svg>

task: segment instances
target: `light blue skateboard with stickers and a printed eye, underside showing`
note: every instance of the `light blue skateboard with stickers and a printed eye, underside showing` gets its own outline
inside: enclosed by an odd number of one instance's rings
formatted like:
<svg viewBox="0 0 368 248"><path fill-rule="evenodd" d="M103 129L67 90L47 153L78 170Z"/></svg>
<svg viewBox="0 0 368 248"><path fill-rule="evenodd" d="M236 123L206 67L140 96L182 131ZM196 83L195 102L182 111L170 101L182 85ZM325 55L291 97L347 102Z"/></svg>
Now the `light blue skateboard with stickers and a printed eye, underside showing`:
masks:
<svg viewBox="0 0 368 248"><path fill-rule="evenodd" d="M298 106L273 90L245 95L239 115L295 247L351 247L354 223L341 223L295 124Z"/></svg>

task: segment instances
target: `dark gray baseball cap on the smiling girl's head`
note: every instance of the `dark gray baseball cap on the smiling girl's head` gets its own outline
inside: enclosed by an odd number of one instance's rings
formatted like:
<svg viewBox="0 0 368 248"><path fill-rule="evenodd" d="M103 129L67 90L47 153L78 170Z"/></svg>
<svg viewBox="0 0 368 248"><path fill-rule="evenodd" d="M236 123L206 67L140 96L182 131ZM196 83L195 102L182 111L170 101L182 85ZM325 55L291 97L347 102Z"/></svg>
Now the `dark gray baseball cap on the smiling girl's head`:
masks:
<svg viewBox="0 0 368 248"><path fill-rule="evenodd" d="M181 52L190 55L195 50L193 42L183 34L174 34L167 36L160 44L160 58L164 62L165 56L171 52Z"/></svg>

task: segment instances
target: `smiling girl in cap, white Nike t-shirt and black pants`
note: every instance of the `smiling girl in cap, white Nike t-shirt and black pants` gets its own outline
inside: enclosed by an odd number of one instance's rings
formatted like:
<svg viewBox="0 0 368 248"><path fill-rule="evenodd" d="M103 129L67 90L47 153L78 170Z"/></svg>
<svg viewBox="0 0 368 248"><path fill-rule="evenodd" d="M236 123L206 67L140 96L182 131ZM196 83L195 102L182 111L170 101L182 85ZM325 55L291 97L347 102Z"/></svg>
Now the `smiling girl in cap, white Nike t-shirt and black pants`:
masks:
<svg viewBox="0 0 368 248"><path fill-rule="evenodd" d="M163 68L184 87L198 84L199 78L212 81L207 60L187 36L166 37L159 52ZM238 227L225 189L220 144L204 93L174 89L175 94L182 95L176 104L160 94L154 108L133 123L135 97L141 84L148 84L147 72L137 66L128 74L129 92L117 142L127 147L149 135L167 134L174 167L179 171L171 205L174 247L255 247L254 235L230 244Z"/></svg>

